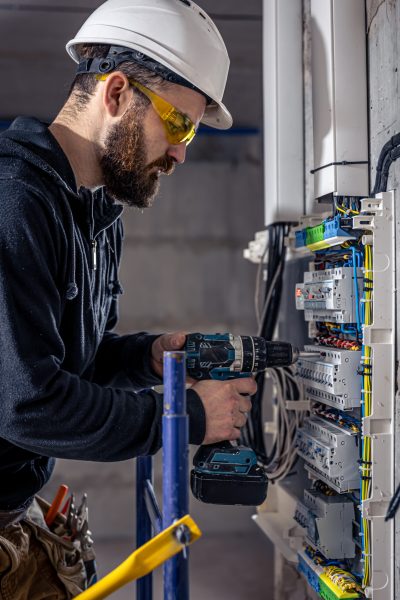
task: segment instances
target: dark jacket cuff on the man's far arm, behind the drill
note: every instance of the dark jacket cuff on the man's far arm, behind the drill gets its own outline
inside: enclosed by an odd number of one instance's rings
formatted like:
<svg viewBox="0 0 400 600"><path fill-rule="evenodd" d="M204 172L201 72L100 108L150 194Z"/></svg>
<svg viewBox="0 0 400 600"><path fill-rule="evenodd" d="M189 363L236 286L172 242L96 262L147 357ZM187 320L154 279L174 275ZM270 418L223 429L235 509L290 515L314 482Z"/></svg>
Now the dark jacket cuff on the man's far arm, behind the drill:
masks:
<svg viewBox="0 0 400 600"><path fill-rule="evenodd" d="M154 340L160 335L148 333L132 335L124 353L125 372L128 377L139 382L143 387L153 387L162 383L162 378L156 375L150 366L151 348Z"/></svg>

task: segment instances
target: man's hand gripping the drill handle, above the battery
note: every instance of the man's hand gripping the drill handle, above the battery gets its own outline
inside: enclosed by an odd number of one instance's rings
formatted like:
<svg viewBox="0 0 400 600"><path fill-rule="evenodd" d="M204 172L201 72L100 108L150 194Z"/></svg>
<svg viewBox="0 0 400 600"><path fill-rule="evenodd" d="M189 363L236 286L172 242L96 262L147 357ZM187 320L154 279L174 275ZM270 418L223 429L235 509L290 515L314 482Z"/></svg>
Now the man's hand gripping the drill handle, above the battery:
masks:
<svg viewBox="0 0 400 600"><path fill-rule="evenodd" d="M237 440L251 410L248 396L257 391L252 378L229 381L198 381L192 386L203 402L206 413L206 435L203 444ZM242 396L241 394L246 394Z"/></svg>

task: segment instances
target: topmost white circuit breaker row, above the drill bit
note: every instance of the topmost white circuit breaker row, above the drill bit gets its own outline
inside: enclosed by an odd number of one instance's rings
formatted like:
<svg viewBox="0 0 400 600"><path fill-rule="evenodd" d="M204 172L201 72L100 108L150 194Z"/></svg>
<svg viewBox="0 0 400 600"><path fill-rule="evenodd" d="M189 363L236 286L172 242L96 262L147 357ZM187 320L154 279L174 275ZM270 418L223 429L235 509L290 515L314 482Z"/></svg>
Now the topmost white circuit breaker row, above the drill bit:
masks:
<svg viewBox="0 0 400 600"><path fill-rule="evenodd" d="M357 273L357 290L361 297L363 274ZM354 269L336 267L322 271L306 271L304 282L296 284L296 308L304 310L306 321L356 323Z"/></svg>

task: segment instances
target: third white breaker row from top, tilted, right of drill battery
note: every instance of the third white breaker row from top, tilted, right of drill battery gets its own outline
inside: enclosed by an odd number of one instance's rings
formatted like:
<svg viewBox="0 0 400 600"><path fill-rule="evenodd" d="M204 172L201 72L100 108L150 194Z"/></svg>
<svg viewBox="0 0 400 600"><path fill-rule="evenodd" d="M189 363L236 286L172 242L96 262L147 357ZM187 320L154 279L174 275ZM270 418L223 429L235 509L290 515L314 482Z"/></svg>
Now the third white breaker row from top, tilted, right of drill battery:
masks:
<svg viewBox="0 0 400 600"><path fill-rule="evenodd" d="M359 486L358 437L354 433L320 417L310 417L297 431L296 447L315 478L340 492Z"/></svg>

